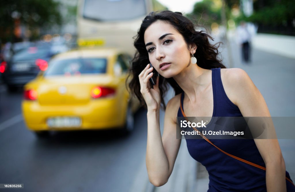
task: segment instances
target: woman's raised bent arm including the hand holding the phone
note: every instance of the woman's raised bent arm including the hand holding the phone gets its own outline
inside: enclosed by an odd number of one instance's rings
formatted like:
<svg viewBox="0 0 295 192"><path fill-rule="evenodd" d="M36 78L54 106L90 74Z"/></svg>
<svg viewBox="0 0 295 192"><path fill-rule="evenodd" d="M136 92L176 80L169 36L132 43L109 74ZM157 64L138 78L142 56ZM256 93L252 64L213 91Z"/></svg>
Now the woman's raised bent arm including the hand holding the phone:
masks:
<svg viewBox="0 0 295 192"><path fill-rule="evenodd" d="M148 107L148 139L146 152L146 166L150 182L155 186L162 186L171 175L181 140L176 139L176 116L179 107L180 95L173 97L167 104L164 131L161 138L159 111L160 90L158 87L159 77L153 89L149 79L153 76L153 68L149 65L138 76L140 92ZM177 100L178 98L178 100ZM177 100L177 102L176 102Z"/></svg>

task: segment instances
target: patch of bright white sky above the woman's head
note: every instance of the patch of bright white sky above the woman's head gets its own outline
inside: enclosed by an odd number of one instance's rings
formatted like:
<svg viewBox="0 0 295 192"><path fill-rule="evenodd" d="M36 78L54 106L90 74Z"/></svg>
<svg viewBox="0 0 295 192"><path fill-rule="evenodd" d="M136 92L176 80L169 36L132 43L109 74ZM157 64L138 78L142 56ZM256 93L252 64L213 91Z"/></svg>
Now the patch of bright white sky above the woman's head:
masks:
<svg viewBox="0 0 295 192"><path fill-rule="evenodd" d="M158 0L161 4L168 7L171 11L190 13L193 11L194 4L202 0Z"/></svg>

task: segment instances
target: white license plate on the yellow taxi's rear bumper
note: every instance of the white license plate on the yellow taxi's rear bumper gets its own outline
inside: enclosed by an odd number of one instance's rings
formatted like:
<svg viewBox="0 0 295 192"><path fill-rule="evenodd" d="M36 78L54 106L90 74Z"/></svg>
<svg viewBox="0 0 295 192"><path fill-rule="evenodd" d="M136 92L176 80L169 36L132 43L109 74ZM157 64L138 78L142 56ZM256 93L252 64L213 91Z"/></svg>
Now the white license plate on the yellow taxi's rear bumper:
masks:
<svg viewBox="0 0 295 192"><path fill-rule="evenodd" d="M81 126L80 117L51 117L47 119L47 126L50 128L71 128Z"/></svg>

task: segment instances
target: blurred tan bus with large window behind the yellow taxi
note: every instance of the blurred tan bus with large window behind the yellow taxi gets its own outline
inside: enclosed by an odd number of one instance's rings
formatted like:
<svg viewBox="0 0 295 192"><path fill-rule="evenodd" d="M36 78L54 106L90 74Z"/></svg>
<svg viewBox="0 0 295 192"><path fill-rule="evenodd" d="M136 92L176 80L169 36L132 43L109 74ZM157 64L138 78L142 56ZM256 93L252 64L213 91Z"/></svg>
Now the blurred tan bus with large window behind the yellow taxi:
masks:
<svg viewBox="0 0 295 192"><path fill-rule="evenodd" d="M133 37L152 0L79 0L78 46L116 47L133 55Z"/></svg>

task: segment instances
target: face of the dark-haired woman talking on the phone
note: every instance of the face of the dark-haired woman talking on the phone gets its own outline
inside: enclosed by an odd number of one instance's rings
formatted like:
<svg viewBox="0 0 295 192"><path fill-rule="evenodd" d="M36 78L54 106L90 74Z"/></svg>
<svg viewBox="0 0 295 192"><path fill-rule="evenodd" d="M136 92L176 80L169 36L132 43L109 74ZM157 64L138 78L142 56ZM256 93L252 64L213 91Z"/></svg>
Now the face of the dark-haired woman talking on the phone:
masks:
<svg viewBox="0 0 295 192"><path fill-rule="evenodd" d="M174 77L185 69L195 49L169 23L155 21L145 31L144 40L150 63L165 78Z"/></svg>

